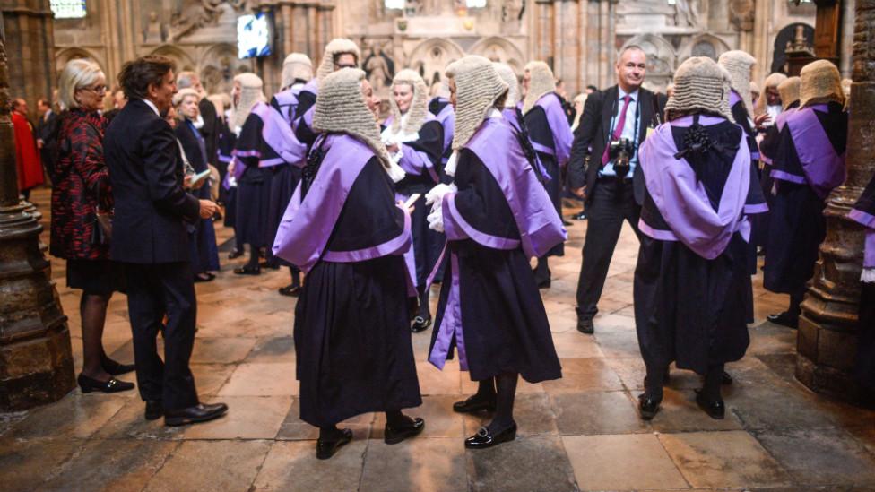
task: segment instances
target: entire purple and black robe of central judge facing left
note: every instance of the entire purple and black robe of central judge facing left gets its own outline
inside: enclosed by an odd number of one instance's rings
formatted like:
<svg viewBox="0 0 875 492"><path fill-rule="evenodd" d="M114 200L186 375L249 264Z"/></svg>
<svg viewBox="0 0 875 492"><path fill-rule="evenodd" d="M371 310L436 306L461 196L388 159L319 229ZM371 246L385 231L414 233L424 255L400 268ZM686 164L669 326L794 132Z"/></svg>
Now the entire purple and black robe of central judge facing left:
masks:
<svg viewBox="0 0 875 492"><path fill-rule="evenodd" d="M509 125L497 118L481 125L460 151L455 182L459 191L442 201L450 277L441 289L429 362L443 367L455 346L474 380L502 372L529 382L559 378L528 258L567 234Z"/></svg>

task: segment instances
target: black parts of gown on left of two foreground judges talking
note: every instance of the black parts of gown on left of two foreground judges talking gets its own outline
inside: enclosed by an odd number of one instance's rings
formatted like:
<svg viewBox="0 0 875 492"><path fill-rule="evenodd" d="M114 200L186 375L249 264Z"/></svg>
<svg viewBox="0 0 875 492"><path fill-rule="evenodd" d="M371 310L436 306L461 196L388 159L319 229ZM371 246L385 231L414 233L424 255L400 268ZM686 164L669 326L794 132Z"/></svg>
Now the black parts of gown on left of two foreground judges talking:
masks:
<svg viewBox="0 0 875 492"><path fill-rule="evenodd" d="M376 246L403 230L392 182L376 157L351 187L328 251ZM419 406L403 256L319 261L295 307L300 417L317 427L370 411Z"/></svg>

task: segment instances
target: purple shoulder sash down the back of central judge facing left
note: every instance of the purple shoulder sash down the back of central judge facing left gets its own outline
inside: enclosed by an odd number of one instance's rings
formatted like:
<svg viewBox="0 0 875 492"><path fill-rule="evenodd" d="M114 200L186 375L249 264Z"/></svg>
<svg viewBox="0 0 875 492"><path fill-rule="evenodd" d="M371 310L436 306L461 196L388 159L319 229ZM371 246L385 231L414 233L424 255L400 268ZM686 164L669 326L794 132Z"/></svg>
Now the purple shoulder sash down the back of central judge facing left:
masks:
<svg viewBox="0 0 875 492"><path fill-rule="evenodd" d="M541 256L551 247L565 241L567 232L562 227L556 208L550 202L547 190L538 181L512 132L509 125L498 119L487 118L465 144L465 148L477 154L504 192L507 205L514 215L525 255ZM447 209L453 210L455 206L450 205ZM477 238L472 236L474 240ZM481 244L495 247L489 240L485 240L485 243Z"/></svg>

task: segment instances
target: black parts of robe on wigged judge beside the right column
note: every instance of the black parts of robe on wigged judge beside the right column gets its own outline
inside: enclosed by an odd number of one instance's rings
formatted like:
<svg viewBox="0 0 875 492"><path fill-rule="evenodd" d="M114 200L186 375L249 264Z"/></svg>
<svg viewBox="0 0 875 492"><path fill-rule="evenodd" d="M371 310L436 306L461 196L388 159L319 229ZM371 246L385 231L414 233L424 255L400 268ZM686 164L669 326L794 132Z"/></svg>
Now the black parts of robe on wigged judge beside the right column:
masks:
<svg viewBox="0 0 875 492"><path fill-rule="evenodd" d="M831 102L827 112L816 111L820 124L836 154L845 153L847 113L842 105ZM781 131L780 143L773 157L775 171L805 176L793 142L790 123ZM774 172L774 171L773 171ZM769 221L763 285L772 292L801 295L805 283L814 275L820 243L827 237L823 211L827 203L807 183L780 179L777 183Z"/></svg>

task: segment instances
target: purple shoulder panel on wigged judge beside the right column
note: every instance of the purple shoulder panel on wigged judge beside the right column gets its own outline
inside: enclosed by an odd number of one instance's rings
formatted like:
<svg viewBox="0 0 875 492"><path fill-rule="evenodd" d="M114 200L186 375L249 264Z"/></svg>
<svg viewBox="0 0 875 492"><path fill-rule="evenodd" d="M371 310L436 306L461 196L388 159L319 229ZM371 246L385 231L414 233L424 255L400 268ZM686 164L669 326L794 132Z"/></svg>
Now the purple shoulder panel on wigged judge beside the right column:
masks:
<svg viewBox="0 0 875 492"><path fill-rule="evenodd" d="M836 186L845 183L845 154L838 155L820 124L815 111L827 112L826 104L816 104L796 111L787 119L793 135L793 145L805 173L805 180L821 199L825 200ZM775 176L775 173L772 173Z"/></svg>

